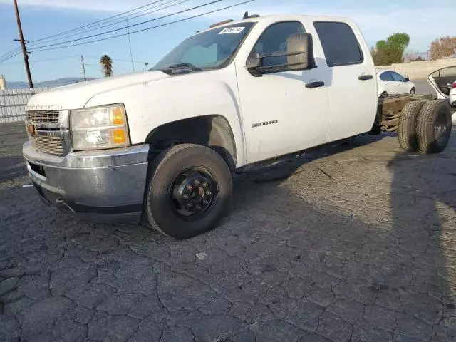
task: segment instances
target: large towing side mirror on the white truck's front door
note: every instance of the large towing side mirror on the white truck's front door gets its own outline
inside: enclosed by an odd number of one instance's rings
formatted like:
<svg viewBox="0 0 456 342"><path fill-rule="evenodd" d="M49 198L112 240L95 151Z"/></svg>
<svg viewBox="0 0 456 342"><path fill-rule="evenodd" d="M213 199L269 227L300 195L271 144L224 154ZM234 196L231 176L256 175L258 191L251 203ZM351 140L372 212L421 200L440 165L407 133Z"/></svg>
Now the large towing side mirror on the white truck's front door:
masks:
<svg viewBox="0 0 456 342"><path fill-rule="evenodd" d="M315 68L314 43L310 33L295 33L286 39L286 64L289 70Z"/></svg>

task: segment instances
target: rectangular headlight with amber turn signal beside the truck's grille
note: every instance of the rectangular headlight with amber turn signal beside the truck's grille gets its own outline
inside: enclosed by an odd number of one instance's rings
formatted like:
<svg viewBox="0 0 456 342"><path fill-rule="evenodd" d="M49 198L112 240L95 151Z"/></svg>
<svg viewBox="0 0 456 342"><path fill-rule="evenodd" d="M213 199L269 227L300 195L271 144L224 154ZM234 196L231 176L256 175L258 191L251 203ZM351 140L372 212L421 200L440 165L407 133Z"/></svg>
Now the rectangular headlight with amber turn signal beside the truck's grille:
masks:
<svg viewBox="0 0 456 342"><path fill-rule="evenodd" d="M73 150L97 150L130 145L123 105L71 110Z"/></svg>

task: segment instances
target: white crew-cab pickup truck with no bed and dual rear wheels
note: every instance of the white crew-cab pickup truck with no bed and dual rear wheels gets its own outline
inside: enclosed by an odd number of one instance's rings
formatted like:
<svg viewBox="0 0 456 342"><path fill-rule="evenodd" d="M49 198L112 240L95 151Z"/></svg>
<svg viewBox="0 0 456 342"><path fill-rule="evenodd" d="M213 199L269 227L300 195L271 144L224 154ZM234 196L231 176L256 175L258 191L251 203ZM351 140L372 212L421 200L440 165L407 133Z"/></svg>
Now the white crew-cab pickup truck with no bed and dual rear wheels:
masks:
<svg viewBox="0 0 456 342"><path fill-rule="evenodd" d="M246 15L195 33L150 71L34 95L23 153L56 207L142 214L193 237L227 213L232 172L382 127L374 76L351 19ZM439 152L448 106L410 102L401 145Z"/></svg>

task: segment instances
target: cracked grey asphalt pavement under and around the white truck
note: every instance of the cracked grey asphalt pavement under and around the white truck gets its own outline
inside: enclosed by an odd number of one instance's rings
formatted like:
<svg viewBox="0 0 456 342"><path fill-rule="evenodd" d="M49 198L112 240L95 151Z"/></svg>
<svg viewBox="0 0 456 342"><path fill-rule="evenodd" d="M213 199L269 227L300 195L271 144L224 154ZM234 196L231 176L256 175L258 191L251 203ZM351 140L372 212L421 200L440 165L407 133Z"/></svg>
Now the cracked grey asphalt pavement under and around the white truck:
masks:
<svg viewBox="0 0 456 342"><path fill-rule="evenodd" d="M0 341L456 341L454 137L237 175L229 217L186 241L46 207L24 140L0 126Z"/></svg>

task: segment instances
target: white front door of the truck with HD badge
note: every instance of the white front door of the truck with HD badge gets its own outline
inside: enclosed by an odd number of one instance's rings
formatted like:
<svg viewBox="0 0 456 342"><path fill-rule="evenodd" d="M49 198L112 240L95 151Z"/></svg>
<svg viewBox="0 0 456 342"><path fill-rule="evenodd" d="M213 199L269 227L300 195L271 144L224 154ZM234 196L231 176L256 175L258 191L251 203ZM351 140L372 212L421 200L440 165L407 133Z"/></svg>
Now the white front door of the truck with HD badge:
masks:
<svg viewBox="0 0 456 342"><path fill-rule="evenodd" d="M299 21L267 27L252 53L286 51L286 39L304 33ZM323 144L328 132L330 85L326 64L302 71L268 71L257 74L237 65L239 98L244 118L247 162L257 162ZM286 56L263 58L263 66L286 63ZM324 86L306 88L322 81Z"/></svg>

